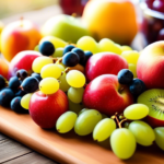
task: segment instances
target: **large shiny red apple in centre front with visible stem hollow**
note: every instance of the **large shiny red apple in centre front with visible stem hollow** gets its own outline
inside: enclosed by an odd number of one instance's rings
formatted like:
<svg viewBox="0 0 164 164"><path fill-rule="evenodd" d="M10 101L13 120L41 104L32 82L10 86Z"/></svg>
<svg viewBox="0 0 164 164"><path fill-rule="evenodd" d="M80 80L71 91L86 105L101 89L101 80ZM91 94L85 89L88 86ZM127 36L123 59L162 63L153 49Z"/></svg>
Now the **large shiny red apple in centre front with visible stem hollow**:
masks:
<svg viewBox="0 0 164 164"><path fill-rule="evenodd" d="M83 94L83 104L108 116L121 114L133 103L128 86L118 83L117 75L103 74L86 85Z"/></svg>

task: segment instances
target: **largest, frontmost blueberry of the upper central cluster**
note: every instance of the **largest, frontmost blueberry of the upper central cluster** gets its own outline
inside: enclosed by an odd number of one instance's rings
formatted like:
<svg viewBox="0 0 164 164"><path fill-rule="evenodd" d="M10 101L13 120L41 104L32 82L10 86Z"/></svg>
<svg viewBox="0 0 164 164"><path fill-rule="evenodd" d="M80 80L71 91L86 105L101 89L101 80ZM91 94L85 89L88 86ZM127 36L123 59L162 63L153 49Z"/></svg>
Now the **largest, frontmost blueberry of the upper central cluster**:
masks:
<svg viewBox="0 0 164 164"><path fill-rule="evenodd" d="M67 52L62 57L62 63L66 65L67 67L74 67L79 63L79 56L75 52Z"/></svg>

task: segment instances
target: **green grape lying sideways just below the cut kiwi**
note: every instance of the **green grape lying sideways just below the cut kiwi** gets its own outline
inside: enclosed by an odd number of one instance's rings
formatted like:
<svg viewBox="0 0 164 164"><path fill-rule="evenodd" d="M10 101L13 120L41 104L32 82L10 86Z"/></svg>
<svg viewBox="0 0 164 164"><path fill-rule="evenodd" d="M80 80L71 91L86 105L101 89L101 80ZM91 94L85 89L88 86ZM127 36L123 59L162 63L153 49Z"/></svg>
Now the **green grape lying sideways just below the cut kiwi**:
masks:
<svg viewBox="0 0 164 164"><path fill-rule="evenodd" d="M144 104L132 104L124 110L124 116L127 119L142 119L149 114L149 107Z"/></svg>

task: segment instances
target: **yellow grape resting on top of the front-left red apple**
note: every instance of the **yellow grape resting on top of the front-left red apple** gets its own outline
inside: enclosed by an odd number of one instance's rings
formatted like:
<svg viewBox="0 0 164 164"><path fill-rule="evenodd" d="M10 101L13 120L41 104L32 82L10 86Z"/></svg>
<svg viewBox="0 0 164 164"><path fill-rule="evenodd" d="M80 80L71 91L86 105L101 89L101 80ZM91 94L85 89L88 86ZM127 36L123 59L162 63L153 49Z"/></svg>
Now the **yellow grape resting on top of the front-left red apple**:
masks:
<svg viewBox="0 0 164 164"><path fill-rule="evenodd" d="M59 90L59 82L55 78L45 78L39 82L39 90L44 94L54 94Z"/></svg>

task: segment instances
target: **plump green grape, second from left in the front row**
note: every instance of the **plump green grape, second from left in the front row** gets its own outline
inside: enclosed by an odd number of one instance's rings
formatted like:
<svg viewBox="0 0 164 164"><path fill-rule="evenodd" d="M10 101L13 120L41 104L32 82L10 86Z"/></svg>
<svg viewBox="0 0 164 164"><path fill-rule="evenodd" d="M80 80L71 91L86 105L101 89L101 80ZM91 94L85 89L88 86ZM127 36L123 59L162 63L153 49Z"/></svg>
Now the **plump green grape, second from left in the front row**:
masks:
<svg viewBox="0 0 164 164"><path fill-rule="evenodd" d="M83 112L81 115L79 115L74 131L79 136L86 136L91 133L96 126L96 124L102 119L102 115L99 112L95 109L90 109Z"/></svg>

